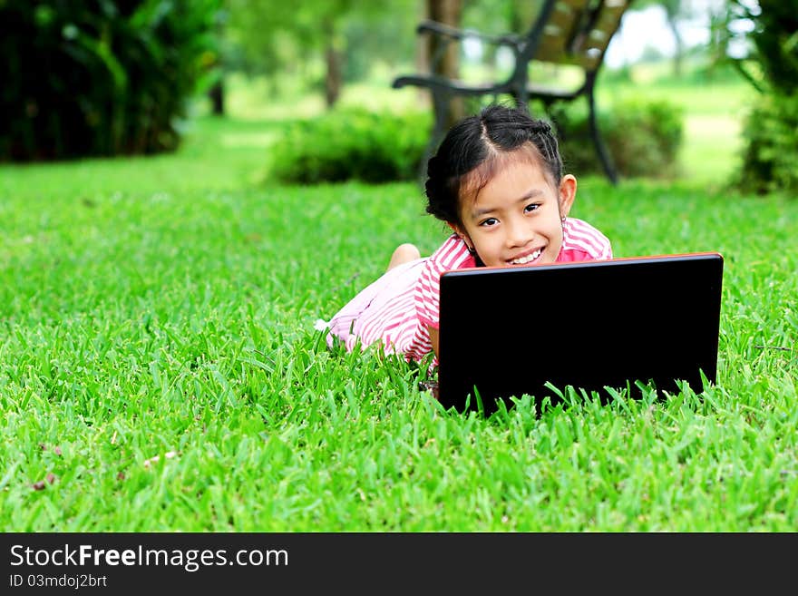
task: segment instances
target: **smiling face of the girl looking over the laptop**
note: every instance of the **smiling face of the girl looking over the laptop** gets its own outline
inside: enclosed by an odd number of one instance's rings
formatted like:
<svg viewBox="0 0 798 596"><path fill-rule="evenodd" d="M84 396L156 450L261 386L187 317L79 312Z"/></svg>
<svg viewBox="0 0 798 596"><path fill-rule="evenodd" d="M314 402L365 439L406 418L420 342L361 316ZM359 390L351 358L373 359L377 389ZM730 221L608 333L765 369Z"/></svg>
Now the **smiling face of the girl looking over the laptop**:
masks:
<svg viewBox="0 0 798 596"><path fill-rule="evenodd" d="M450 225L488 267L553 263L576 189L570 174L555 189L539 165L513 160L476 198L461 200L462 226Z"/></svg>

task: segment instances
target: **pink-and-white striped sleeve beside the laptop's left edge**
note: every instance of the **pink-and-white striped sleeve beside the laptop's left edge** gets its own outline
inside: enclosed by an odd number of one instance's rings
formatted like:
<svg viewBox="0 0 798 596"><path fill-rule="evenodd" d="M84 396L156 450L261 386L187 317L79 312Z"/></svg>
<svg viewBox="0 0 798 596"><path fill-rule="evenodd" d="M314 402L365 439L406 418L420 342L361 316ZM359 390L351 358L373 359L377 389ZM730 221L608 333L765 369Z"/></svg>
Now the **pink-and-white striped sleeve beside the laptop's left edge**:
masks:
<svg viewBox="0 0 798 596"><path fill-rule="evenodd" d="M438 328L441 311L441 274L447 269L474 267L476 262L465 243L452 234L424 263L415 285L416 315L424 325Z"/></svg>

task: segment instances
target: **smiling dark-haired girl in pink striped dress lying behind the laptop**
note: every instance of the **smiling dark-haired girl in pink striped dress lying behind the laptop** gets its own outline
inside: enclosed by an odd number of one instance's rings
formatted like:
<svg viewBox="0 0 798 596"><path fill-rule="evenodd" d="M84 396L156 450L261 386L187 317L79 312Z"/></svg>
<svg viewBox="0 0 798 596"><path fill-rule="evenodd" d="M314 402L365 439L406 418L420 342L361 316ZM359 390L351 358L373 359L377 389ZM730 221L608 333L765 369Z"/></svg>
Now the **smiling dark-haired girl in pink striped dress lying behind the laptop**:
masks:
<svg viewBox="0 0 798 596"><path fill-rule="evenodd" d="M563 175L549 124L523 108L491 105L456 124L427 164L425 191L427 212L452 235L427 258L412 244L395 249L381 278L317 324L328 345L382 342L420 361L437 355L443 271L612 258L599 230L568 217L577 180Z"/></svg>

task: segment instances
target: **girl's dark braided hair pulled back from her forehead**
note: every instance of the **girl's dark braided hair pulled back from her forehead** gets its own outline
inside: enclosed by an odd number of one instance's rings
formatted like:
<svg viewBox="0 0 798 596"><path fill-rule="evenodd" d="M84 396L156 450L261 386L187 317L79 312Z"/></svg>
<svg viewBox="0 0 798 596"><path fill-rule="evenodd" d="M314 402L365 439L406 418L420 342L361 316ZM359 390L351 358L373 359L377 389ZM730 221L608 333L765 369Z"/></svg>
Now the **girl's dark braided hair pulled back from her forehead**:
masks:
<svg viewBox="0 0 798 596"><path fill-rule="evenodd" d="M446 133L427 162L427 213L462 224L460 197L476 196L517 151L543 168L554 188L562 179L562 158L550 125L525 107L491 104L464 118Z"/></svg>

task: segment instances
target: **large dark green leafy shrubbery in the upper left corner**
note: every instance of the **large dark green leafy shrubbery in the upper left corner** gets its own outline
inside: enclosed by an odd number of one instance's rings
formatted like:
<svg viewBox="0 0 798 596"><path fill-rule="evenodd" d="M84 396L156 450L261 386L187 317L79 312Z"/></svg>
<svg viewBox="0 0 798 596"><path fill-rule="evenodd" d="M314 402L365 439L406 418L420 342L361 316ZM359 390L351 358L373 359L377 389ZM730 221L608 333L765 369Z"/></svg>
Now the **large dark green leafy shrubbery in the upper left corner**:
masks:
<svg viewBox="0 0 798 596"><path fill-rule="evenodd" d="M0 160L174 149L218 0L0 3Z"/></svg>

